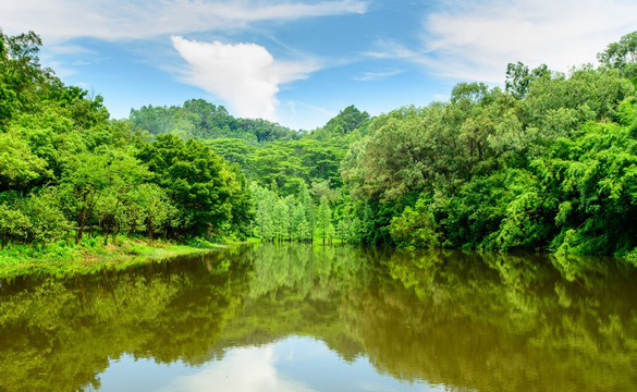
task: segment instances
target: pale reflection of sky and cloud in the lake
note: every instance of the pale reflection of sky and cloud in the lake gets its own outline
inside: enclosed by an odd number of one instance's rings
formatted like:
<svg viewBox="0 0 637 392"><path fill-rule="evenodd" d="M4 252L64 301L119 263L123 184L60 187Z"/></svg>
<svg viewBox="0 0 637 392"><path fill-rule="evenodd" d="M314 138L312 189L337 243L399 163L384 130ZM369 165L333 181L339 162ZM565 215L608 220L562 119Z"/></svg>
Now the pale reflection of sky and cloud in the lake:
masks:
<svg viewBox="0 0 637 392"><path fill-rule="evenodd" d="M151 384L134 376L139 372L152 375ZM259 346L229 348L223 360L198 367L182 363L158 365L125 356L112 363L101 377L100 391L408 391L415 387L420 391L444 390L425 382L409 384L379 375L363 358L343 364L324 343L289 336Z"/></svg>

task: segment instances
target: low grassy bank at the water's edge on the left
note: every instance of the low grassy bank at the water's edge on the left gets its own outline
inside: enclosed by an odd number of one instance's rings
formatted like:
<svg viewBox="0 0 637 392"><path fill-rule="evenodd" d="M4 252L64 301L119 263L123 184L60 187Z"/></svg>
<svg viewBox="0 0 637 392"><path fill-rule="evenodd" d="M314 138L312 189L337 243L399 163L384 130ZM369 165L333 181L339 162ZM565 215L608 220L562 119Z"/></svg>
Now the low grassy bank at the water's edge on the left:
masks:
<svg viewBox="0 0 637 392"><path fill-rule="evenodd" d="M28 273L53 275L90 273L105 268L126 268L222 246L203 240L180 244L126 236L118 236L107 245L103 245L103 237L100 236L84 238L77 245L72 241L46 245L10 244L0 250L0 279Z"/></svg>

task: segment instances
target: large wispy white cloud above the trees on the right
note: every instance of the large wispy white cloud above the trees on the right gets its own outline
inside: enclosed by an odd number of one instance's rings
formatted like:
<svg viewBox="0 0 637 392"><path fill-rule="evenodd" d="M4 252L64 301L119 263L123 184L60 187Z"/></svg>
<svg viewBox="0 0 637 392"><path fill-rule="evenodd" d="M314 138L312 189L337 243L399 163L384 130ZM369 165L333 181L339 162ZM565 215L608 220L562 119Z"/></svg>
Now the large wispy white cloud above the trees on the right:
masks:
<svg viewBox="0 0 637 392"><path fill-rule="evenodd" d="M438 75L502 83L506 64L567 72L596 63L608 44L637 28L634 0L451 1L424 21L422 47L377 42L377 59L403 59Z"/></svg>

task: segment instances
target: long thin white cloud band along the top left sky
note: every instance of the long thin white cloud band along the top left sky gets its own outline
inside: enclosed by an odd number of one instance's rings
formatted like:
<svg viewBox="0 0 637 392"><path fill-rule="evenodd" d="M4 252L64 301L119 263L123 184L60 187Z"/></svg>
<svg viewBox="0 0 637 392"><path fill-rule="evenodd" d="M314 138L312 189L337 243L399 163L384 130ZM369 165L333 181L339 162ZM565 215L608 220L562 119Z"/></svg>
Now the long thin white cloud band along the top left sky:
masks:
<svg viewBox="0 0 637 392"><path fill-rule="evenodd" d="M75 37L145 39L235 29L259 21L364 13L366 9L359 0L20 0L3 2L0 26L10 35L32 29L47 44L56 44Z"/></svg>

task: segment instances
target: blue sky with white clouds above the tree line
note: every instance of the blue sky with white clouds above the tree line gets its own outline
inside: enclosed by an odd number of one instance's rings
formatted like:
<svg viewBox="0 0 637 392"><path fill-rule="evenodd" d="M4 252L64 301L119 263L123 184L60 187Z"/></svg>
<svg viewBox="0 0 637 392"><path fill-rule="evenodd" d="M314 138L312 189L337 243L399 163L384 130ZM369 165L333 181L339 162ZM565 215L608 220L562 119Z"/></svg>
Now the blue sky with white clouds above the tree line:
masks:
<svg viewBox="0 0 637 392"><path fill-rule="evenodd" d="M203 98L241 118L322 126L502 86L506 64L567 73L637 29L635 0L0 0L5 35L101 95L112 118Z"/></svg>

